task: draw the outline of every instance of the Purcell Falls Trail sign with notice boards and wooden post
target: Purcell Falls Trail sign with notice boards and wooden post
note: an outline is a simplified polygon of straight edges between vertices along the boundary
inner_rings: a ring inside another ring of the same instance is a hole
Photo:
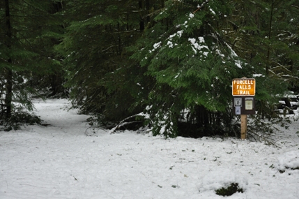
[[[255,79],[240,78],[233,79],[233,112],[241,115],[241,139],[246,139],[247,133],[247,115],[255,114],[254,97],[255,96]],[[236,96],[236,97],[235,97]]]

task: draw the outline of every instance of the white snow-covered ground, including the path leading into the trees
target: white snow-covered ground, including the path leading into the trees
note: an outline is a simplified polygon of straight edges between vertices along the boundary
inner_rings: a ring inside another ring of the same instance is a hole
[[[35,101],[48,126],[0,132],[0,198],[299,198],[299,121],[277,132],[280,147],[235,138],[138,134],[86,136],[86,115],[66,100]],[[298,114],[298,113],[296,113]],[[279,172],[284,170],[284,172]]]

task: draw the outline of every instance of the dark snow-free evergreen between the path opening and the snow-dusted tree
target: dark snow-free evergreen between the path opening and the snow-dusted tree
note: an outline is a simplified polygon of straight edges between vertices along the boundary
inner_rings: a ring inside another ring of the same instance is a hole
[[[126,50],[146,28],[147,1],[69,1],[67,33],[59,49],[66,59],[72,102],[82,112],[117,121],[138,109],[142,80]]]

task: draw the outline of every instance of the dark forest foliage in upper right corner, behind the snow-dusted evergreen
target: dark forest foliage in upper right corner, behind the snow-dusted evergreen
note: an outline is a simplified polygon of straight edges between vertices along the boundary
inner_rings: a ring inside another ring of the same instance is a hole
[[[266,70],[261,74],[289,82],[293,89],[298,84],[298,24],[293,24],[298,21],[298,1],[235,1],[234,6],[228,17],[233,26],[224,31],[233,49]]]

